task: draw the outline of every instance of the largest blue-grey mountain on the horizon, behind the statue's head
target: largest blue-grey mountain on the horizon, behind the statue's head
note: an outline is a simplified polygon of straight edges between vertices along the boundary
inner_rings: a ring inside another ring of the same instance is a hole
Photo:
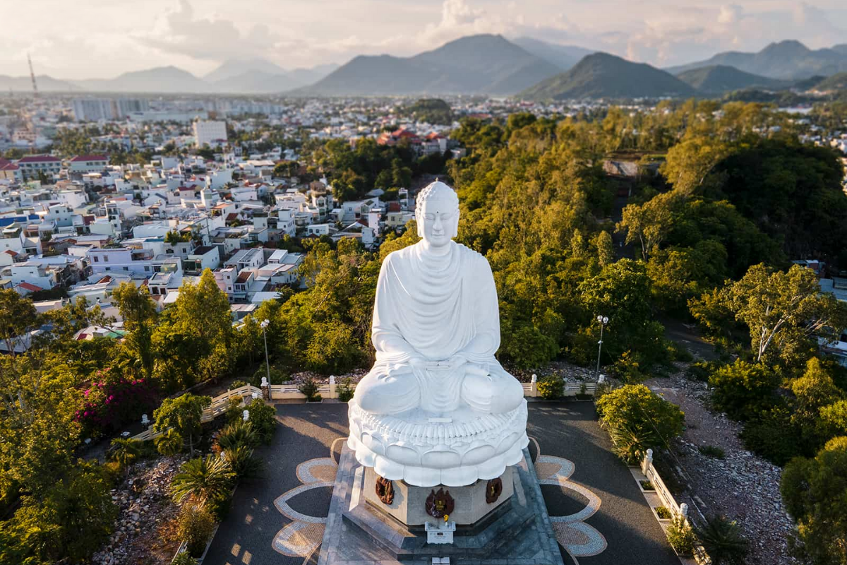
[[[299,96],[514,94],[560,68],[503,36],[468,36],[413,57],[360,55]]]

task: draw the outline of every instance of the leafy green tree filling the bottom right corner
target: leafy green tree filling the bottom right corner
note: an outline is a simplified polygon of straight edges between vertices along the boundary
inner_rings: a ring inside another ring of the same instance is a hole
[[[793,459],[780,490],[797,523],[799,557],[820,565],[847,562],[847,437],[829,440],[813,459]]]

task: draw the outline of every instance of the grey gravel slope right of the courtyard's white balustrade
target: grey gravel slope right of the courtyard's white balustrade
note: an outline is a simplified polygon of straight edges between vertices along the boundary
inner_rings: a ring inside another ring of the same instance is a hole
[[[745,449],[741,424],[707,409],[710,392],[702,382],[674,374],[645,385],[685,413],[687,428],[674,448],[689,489],[679,501],[688,503],[695,518],[699,508],[706,515],[738,520],[750,540],[748,565],[796,563],[788,550],[794,523],[779,494],[782,469]],[[703,455],[701,446],[720,447],[724,458]]]

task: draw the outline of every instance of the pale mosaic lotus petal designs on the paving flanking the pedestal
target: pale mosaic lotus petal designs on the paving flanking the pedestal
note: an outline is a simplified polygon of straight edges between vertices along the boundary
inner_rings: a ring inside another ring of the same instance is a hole
[[[339,440],[344,440],[344,438],[339,438]],[[534,438],[531,438],[531,440],[538,448],[538,442]],[[291,523],[285,525],[274,536],[274,550],[288,557],[304,557],[304,563],[308,562],[309,557],[320,546],[324,537],[326,517],[309,516],[297,512],[291,507],[289,501],[307,492],[307,490],[332,488],[338,465],[335,463],[335,459],[331,457],[331,451],[330,449],[330,457],[309,459],[298,465],[296,475],[302,485],[287,490],[274,501],[277,510],[286,518],[291,519]],[[569,480],[576,468],[573,462],[563,457],[541,455],[540,449],[537,452],[539,455],[535,459],[535,473],[538,475],[541,485],[558,485],[563,491],[573,490],[589,501],[579,512],[567,516],[550,517],[559,545],[567,551],[573,562],[579,565],[577,557],[590,557],[606,550],[606,538],[597,529],[584,523],[584,520],[593,516],[600,509],[600,497],[584,486]]]

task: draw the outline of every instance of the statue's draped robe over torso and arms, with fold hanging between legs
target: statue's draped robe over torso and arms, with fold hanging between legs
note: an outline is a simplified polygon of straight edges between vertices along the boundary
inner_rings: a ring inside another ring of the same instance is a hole
[[[435,255],[422,243],[392,252],[382,264],[374,302],[371,339],[375,374],[413,373],[409,360],[461,356],[495,374],[506,374],[494,354],[500,346],[500,316],[488,261],[451,241]],[[451,409],[465,368],[415,374],[422,404]],[[452,374],[455,373],[455,374]]]

